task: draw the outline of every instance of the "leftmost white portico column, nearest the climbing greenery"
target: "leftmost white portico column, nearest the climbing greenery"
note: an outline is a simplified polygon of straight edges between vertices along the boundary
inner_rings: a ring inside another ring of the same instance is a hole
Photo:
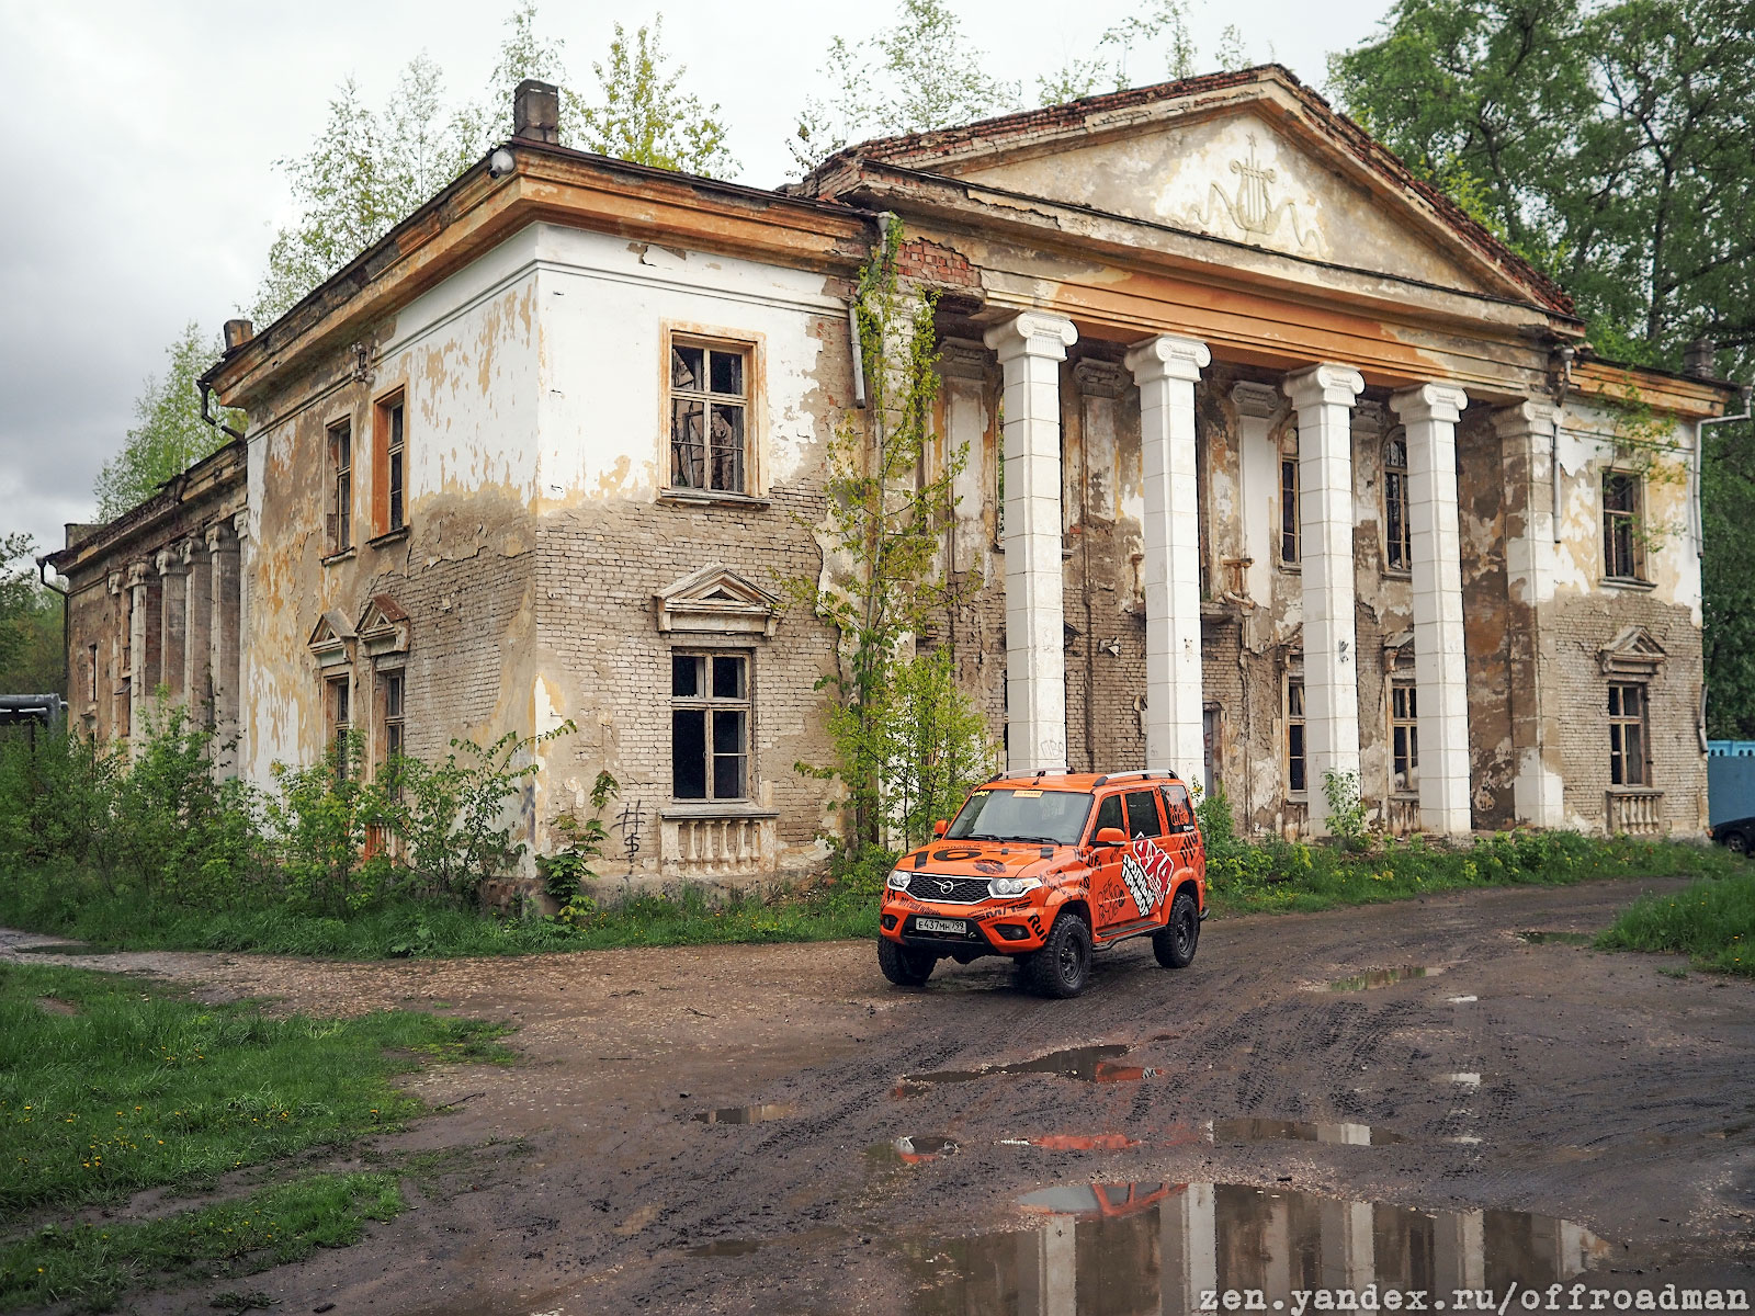
[[[1060,567],[1060,363],[1071,319],[1025,311],[985,335],[1006,381],[1007,770],[1065,772],[1067,663]]]

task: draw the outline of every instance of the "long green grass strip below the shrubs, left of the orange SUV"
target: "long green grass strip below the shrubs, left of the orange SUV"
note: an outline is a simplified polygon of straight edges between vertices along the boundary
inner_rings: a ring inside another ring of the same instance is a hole
[[[577,926],[541,918],[493,918],[435,904],[393,904],[353,918],[284,905],[190,909],[111,893],[67,870],[0,876],[0,926],[68,937],[100,949],[267,951],[342,960],[393,956],[530,955],[611,946],[832,941],[878,935],[878,900],[844,888],[806,895],[709,902],[612,902]]]

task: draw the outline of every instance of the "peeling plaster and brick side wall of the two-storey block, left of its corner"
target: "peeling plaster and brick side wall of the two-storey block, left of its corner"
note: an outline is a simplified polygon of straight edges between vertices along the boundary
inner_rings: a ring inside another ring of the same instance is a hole
[[[249,440],[249,677],[246,774],[309,763],[330,735],[325,674],[309,649],[333,612],[358,623],[372,595],[411,616],[405,735],[412,755],[451,737],[528,735],[534,651],[537,332],[534,233],[505,240],[374,326],[367,372],[342,349],[258,407]],[[388,532],[374,458],[377,402],[405,405],[405,530]],[[353,433],[353,547],[333,554],[328,430]],[[351,647],[353,725],[383,755],[374,663]],[[333,674],[333,672],[332,672]],[[525,691],[519,695],[518,691]]]

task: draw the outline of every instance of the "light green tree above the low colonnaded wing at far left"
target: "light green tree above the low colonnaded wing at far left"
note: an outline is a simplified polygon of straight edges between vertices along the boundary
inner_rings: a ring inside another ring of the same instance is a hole
[[[195,381],[219,356],[219,339],[202,333],[191,319],[165,349],[165,372],[147,375],[133,402],[135,425],[121,451],[104,463],[93,495],[98,518],[121,516],[146,502],[158,486],[181,476],[209,453],[218,451],[226,435],[202,419],[202,395]],[[239,426],[240,416],[225,419]]]

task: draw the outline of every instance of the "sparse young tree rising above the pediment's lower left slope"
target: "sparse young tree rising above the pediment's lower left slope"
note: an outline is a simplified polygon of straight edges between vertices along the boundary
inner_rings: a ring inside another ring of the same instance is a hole
[[[1016,82],[988,75],[946,0],[902,0],[895,23],[872,37],[828,46],[828,100],[799,114],[792,154],[814,168],[848,142],[927,132],[1018,107]]]

